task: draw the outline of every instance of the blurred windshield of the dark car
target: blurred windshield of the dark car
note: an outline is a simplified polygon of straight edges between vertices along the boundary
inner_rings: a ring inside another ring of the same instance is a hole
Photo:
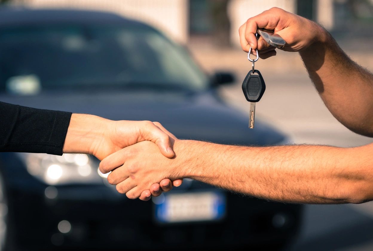
[[[145,25],[0,30],[1,91],[207,85],[184,48]]]

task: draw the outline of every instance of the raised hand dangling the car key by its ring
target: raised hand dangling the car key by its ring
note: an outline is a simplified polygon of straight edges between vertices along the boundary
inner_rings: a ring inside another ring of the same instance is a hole
[[[253,50],[258,48],[259,57],[262,59],[275,56],[276,51],[275,47],[270,46],[262,37],[257,41],[255,37],[257,28],[273,30],[279,34],[286,41],[285,47],[281,48],[284,51],[304,50],[325,34],[323,28],[316,23],[273,7],[249,18],[238,30],[242,49],[248,52],[250,47]],[[253,54],[256,56],[255,51]]]

